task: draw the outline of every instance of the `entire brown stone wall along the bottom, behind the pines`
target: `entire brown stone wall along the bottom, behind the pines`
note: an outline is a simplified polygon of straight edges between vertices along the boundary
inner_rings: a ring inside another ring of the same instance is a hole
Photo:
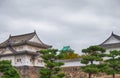
[[[21,66],[16,67],[21,75],[21,78],[39,78],[40,67]],[[81,71],[79,66],[62,67],[62,71],[65,73],[65,78],[88,78],[88,75]],[[111,75],[97,74],[92,78],[112,78]],[[116,78],[120,78],[116,75]]]

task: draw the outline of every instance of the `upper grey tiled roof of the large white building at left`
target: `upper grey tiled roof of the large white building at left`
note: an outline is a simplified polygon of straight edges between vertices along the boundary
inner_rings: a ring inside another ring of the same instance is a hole
[[[51,48],[52,47],[50,45],[44,44],[40,39],[39,39],[40,43],[29,41],[35,35],[37,36],[35,31],[32,33],[16,35],[16,36],[10,35],[6,41],[4,41],[3,43],[0,44],[0,48],[7,47],[8,45],[18,46],[18,45],[24,45],[24,44],[36,46],[39,48]]]

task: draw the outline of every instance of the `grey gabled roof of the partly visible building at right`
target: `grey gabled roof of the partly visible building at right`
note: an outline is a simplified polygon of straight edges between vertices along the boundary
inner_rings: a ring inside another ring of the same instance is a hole
[[[100,46],[105,48],[120,47],[120,43],[105,44],[111,37],[114,37],[116,40],[120,41],[120,36],[112,32],[111,35],[103,43],[100,44]]]

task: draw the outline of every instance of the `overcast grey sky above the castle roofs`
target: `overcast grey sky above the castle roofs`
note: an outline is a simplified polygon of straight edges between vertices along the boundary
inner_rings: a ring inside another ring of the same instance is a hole
[[[34,30],[44,43],[80,53],[120,35],[120,0],[0,0],[0,42]]]

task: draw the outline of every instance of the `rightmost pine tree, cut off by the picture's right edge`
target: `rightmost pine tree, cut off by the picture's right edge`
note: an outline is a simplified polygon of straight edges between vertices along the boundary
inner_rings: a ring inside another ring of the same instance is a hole
[[[120,74],[120,51],[110,51],[105,63],[108,66],[108,69],[105,71],[105,73],[111,74],[113,78],[115,78],[115,74]]]

